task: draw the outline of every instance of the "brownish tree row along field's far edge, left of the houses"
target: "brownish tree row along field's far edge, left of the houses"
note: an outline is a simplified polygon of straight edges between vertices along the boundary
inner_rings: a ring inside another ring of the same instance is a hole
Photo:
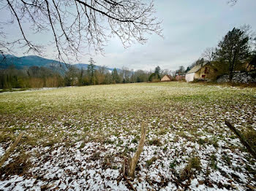
[[[41,88],[83,85],[110,85],[118,83],[159,82],[165,74],[174,75],[175,71],[162,70],[159,66],[154,71],[113,69],[96,66],[90,58],[86,69],[69,65],[66,69],[57,67],[30,66],[16,69],[15,65],[0,69],[0,89]]]

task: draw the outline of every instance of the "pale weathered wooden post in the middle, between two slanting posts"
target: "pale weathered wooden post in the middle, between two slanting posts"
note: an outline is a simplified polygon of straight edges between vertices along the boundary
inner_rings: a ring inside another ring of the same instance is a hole
[[[132,160],[129,163],[129,172],[128,172],[129,177],[134,178],[135,176],[135,168],[140,158],[140,154],[143,151],[145,140],[146,140],[146,125],[143,123],[141,125],[141,137],[140,137],[140,143],[138,145],[138,149],[135,152],[134,157],[132,157]]]

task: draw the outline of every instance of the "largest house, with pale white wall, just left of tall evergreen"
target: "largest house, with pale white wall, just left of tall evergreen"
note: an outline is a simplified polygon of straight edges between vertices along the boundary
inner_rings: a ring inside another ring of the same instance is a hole
[[[209,79],[216,69],[209,62],[198,64],[190,69],[186,74],[186,81],[192,82],[194,79]]]

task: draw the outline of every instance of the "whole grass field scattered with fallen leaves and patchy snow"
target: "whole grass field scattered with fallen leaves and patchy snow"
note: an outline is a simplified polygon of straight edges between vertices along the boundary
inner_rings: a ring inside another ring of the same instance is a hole
[[[0,190],[129,190],[124,157],[148,128],[135,190],[253,190],[256,160],[225,126],[256,134],[256,88],[185,82],[0,94]]]

